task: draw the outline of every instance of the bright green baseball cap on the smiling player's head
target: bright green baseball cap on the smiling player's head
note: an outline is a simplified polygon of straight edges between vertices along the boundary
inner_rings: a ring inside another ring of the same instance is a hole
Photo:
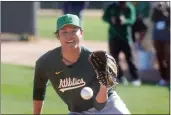
[[[60,16],[57,19],[56,32],[58,32],[65,25],[74,25],[81,28],[81,20],[78,18],[77,15],[73,15],[73,14],[65,14],[63,16]]]

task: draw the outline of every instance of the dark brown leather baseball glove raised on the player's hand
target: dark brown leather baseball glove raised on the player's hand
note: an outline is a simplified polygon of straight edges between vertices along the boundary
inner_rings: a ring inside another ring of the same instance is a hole
[[[89,56],[89,62],[93,66],[97,79],[108,90],[116,87],[117,65],[115,59],[105,51],[95,51]]]

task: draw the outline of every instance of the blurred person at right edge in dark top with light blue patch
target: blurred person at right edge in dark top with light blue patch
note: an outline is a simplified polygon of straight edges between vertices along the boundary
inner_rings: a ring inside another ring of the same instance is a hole
[[[152,11],[153,43],[159,63],[159,85],[170,84],[170,2],[156,2]]]

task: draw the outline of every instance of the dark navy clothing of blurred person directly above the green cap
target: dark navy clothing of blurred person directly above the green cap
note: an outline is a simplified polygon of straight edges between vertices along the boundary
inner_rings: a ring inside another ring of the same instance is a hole
[[[83,20],[83,11],[88,6],[86,1],[65,1],[63,4],[64,14],[75,14]]]

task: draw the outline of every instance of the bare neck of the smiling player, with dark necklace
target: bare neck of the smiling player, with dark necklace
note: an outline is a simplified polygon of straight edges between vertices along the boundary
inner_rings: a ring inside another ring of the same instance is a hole
[[[63,58],[62,60],[66,65],[71,65],[77,62],[77,60],[80,57],[80,53],[81,53],[81,47],[70,49],[70,50],[62,48],[62,58]]]

